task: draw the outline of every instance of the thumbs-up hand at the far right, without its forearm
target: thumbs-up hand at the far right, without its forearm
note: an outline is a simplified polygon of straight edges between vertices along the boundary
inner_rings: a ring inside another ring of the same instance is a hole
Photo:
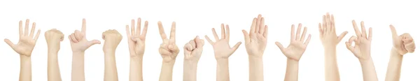
[[[407,52],[412,53],[416,49],[414,39],[408,33],[398,36],[397,31],[393,25],[389,25],[392,32],[393,47],[398,51],[398,54],[404,55]]]

